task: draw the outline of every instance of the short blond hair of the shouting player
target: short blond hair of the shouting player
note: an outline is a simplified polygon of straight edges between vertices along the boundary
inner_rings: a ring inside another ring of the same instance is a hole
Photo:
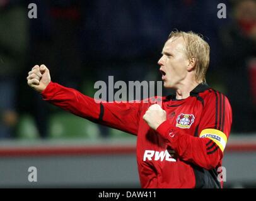
[[[195,79],[206,82],[206,71],[210,62],[209,44],[203,39],[202,35],[198,35],[193,31],[172,31],[168,40],[173,37],[183,37],[187,58],[195,58]]]

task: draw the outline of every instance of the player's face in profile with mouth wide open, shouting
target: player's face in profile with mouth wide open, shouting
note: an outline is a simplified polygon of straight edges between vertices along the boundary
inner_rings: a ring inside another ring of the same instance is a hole
[[[185,55],[185,41],[182,37],[170,38],[163,47],[162,57],[158,61],[164,87],[177,89],[187,76],[189,60]]]

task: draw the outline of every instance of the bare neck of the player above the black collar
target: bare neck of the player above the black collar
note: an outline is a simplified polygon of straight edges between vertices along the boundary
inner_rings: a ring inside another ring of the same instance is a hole
[[[199,85],[200,82],[197,81],[191,81],[191,82],[187,82],[185,84],[181,84],[178,89],[176,89],[176,99],[180,100],[180,99],[186,99],[187,97],[190,96],[190,92],[195,89],[195,87],[197,85]]]

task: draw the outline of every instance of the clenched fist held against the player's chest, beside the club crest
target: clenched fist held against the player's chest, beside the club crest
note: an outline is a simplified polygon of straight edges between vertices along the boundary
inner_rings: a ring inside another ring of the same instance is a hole
[[[158,126],[166,120],[166,112],[161,109],[160,105],[153,104],[145,112],[143,119],[147,122],[150,128],[156,130]]]

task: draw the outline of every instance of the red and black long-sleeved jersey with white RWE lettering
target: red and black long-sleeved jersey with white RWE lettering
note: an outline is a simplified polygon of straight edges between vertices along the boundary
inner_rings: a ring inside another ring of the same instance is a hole
[[[143,115],[154,101],[95,102],[77,90],[50,82],[42,97],[90,121],[137,136],[137,166],[143,188],[221,188],[218,172],[230,135],[228,99],[199,84],[186,99],[153,97],[166,111],[156,131]]]

